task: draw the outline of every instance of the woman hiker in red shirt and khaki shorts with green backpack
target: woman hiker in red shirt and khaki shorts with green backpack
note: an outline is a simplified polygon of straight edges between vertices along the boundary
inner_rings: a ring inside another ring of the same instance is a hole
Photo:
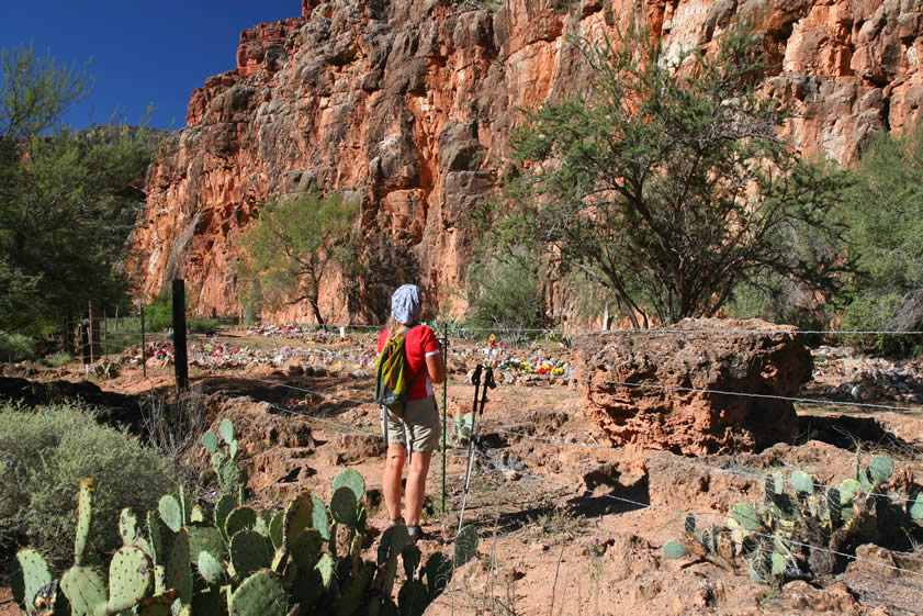
[[[439,410],[432,385],[446,380],[446,366],[436,334],[417,320],[423,294],[416,284],[404,284],[391,296],[391,317],[379,333],[379,355],[389,339],[404,336],[409,377],[419,374],[407,393],[404,416],[384,410],[382,424],[387,452],[384,461],[384,502],[392,525],[406,524],[410,539],[423,536],[420,513],[426,494],[429,460],[440,437]],[[401,513],[401,477],[407,462],[407,490]]]

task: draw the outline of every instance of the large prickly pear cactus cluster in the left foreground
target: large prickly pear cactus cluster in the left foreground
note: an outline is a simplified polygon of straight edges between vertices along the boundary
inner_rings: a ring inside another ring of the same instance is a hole
[[[222,430],[228,446],[233,436],[233,429]],[[365,482],[354,470],[334,480],[329,505],[305,491],[282,512],[258,512],[240,503],[239,486],[226,486],[236,494],[223,494],[209,516],[190,509],[182,490],[162,496],[145,516],[124,509],[123,546],[105,568],[87,551],[94,516],[92,481],[85,480],[75,564],[58,581],[37,552],[20,550],[16,598],[30,615],[420,616],[454,568],[476,553],[477,536],[465,527],[453,559],[436,553],[421,565],[406,527],[395,526],[382,535],[378,558],[363,559]],[[405,582],[395,602],[398,557]]]

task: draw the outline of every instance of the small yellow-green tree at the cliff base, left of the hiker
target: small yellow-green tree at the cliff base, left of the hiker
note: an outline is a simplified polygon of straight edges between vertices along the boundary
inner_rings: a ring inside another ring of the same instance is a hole
[[[279,309],[307,301],[317,324],[320,283],[330,265],[353,255],[359,204],[339,194],[311,193],[267,202],[244,238],[245,301],[257,309]]]

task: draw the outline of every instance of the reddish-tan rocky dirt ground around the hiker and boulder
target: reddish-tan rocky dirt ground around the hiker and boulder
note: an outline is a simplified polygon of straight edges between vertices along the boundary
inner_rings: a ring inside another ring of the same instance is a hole
[[[331,479],[353,468],[367,481],[369,524],[374,534],[383,530],[387,516],[379,504],[381,446],[365,434],[378,430],[379,423],[376,407],[364,403],[371,400],[372,380],[368,365],[362,366],[374,351],[373,337],[305,343],[251,339],[238,332],[200,345],[218,348],[222,343],[284,355],[274,362],[191,369],[193,390],[211,400],[210,419],[235,419],[249,456],[256,497],[280,503],[288,494],[307,489],[327,500]],[[296,347],[308,350],[300,357]],[[474,387],[466,382],[466,374],[483,357],[479,345],[458,343],[452,349],[447,391],[450,425],[454,416],[471,411]],[[561,345],[521,352],[529,354],[567,358]],[[128,361],[116,377],[97,384],[127,396],[169,393],[173,384],[169,362],[149,368],[147,378],[142,378],[139,368]],[[29,378],[77,380],[80,376],[79,368],[67,367]],[[848,377],[818,370],[803,395],[825,400],[826,392]],[[427,614],[923,613],[923,574],[897,571],[894,555],[870,546],[860,548],[863,560],[835,578],[795,581],[780,590],[757,584],[745,571],[734,573],[693,557],[668,560],[662,552],[666,541],[682,536],[686,514],[723,520],[735,502],[762,499],[758,477],[764,473],[801,469],[828,484],[851,477],[857,445],[864,451],[887,451],[899,470],[923,477],[919,404],[885,401],[883,405],[899,407],[886,411],[864,410],[848,401],[799,403],[802,434],[795,445],[693,459],[611,448],[583,417],[572,379],[533,374],[506,381],[488,393],[482,447],[465,501],[464,523],[477,528],[480,558],[457,571],[449,590]],[[864,401],[874,403],[875,399]],[[249,422],[241,422],[243,416]],[[434,551],[451,551],[466,455],[465,447],[454,447],[446,457],[444,512],[442,458],[434,457],[424,520],[428,537],[420,542],[424,558]],[[4,603],[9,596],[4,592],[0,590],[0,616],[18,613]]]

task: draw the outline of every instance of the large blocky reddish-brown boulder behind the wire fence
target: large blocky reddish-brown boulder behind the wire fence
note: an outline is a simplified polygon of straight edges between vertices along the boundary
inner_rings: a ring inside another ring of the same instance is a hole
[[[615,446],[702,456],[792,439],[798,416],[775,396],[796,395],[812,366],[793,327],[705,318],[672,329],[682,335],[574,341],[583,408]]]

